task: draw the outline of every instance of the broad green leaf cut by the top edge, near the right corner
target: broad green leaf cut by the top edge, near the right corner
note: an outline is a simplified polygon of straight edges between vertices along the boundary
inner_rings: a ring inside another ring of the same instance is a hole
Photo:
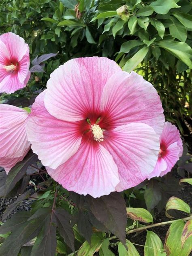
[[[179,8],[181,6],[175,3],[175,0],[157,0],[149,4],[156,13],[166,14],[171,8]]]

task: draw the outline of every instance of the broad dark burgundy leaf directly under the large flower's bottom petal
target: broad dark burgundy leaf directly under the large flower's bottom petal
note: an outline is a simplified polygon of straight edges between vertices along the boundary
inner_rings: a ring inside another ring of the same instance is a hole
[[[122,243],[126,243],[126,204],[120,193],[113,192],[100,198],[89,198],[90,209],[94,216]]]

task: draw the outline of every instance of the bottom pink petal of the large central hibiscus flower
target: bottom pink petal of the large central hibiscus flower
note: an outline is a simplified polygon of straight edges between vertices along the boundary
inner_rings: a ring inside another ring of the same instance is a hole
[[[119,183],[113,157],[97,142],[83,141],[73,157],[47,172],[67,190],[94,198],[110,194]]]

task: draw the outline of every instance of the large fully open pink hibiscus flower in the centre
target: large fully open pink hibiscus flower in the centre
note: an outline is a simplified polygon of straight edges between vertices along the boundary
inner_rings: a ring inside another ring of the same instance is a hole
[[[32,106],[27,134],[55,181],[96,198],[152,172],[162,112],[156,90],[140,75],[108,58],[78,58],[51,74]]]

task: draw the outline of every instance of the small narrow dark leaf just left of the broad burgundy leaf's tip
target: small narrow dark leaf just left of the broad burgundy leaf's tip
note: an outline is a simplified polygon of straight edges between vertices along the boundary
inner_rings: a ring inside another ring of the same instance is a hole
[[[83,211],[79,211],[77,226],[79,232],[85,237],[85,239],[91,243],[92,236],[92,224],[87,216],[87,214]]]

